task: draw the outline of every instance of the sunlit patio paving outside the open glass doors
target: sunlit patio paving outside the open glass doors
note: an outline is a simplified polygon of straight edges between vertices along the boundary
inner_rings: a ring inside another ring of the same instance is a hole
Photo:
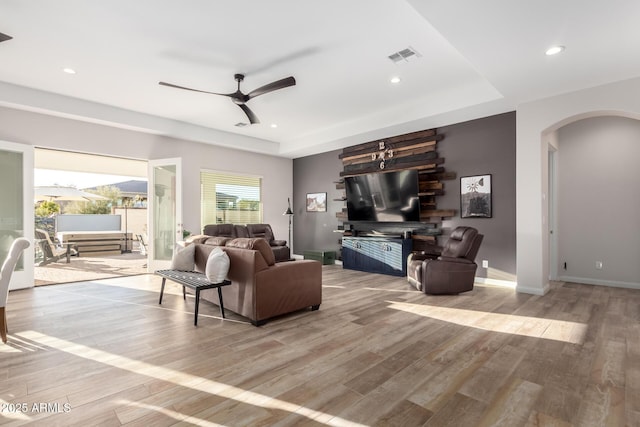
[[[69,264],[61,259],[42,267],[36,266],[34,269],[35,285],[89,281],[147,273],[147,256],[140,253],[137,241],[134,242],[133,249],[132,252],[121,255],[74,256],[71,257]]]

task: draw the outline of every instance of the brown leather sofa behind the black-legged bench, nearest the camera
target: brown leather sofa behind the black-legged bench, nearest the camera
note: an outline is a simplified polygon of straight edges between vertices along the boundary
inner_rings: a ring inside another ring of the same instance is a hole
[[[196,271],[204,272],[209,253],[220,245],[229,255],[230,286],[222,288],[225,309],[247,317],[259,326],[267,319],[298,310],[317,310],[322,302],[322,265],[318,261],[275,262],[262,238],[212,237],[194,243]],[[201,297],[219,304],[215,289]]]

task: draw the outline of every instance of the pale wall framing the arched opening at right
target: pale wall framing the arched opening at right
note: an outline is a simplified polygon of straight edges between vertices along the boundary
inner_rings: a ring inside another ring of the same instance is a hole
[[[548,290],[546,202],[548,135],[573,121],[620,115],[640,118],[640,79],[611,83],[522,104],[517,109],[517,290]]]

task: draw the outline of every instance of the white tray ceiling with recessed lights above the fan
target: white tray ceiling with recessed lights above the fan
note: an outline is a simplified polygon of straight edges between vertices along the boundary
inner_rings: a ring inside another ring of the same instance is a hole
[[[2,0],[0,105],[295,158],[638,77],[639,18],[637,0]],[[228,98],[158,85],[230,93],[235,73],[297,85],[242,128]]]

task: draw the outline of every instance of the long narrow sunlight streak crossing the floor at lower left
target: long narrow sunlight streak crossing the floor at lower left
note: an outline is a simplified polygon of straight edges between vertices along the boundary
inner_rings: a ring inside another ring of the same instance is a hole
[[[281,410],[292,414],[295,413],[310,420],[316,420],[316,422],[318,422],[318,418],[324,417],[330,419],[329,424],[333,426],[364,427],[362,424],[354,423],[321,411],[305,408],[304,406],[276,399],[271,396],[250,390],[244,390],[232,385],[191,375],[185,372],[176,371],[175,369],[170,369],[164,366],[157,366],[140,360],[130,359],[128,357],[88,347],[83,344],[59,339],[50,335],[44,335],[36,331],[24,331],[17,335],[24,339],[73,354],[74,356],[81,357],[83,359],[103,363],[118,369],[155,378],[160,381],[169,381],[169,378],[173,378],[174,381],[172,382],[176,385],[203,393],[215,394],[227,399],[233,399],[247,405],[260,406],[272,410]]]

